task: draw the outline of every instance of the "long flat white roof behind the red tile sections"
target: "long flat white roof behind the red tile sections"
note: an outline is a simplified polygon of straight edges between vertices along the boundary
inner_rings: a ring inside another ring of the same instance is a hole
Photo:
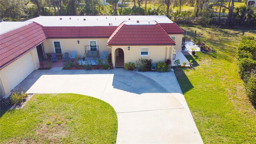
[[[140,20],[173,23],[166,16],[39,16],[26,22],[37,22],[42,26],[109,26],[109,24],[111,26],[119,26],[123,21],[128,20],[134,22]]]

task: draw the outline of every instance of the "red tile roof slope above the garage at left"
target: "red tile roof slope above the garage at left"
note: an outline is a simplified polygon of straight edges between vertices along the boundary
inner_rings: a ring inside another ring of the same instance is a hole
[[[0,69],[46,40],[42,26],[36,22],[0,35]]]

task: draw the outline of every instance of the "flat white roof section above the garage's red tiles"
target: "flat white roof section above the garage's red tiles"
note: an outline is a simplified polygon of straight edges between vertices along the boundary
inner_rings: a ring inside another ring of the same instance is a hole
[[[31,24],[32,22],[0,22],[0,34],[14,30],[21,26]]]

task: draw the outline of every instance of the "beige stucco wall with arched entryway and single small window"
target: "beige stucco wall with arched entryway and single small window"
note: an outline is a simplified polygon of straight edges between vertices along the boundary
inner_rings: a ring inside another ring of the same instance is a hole
[[[142,47],[149,48],[149,56],[140,56],[140,48]],[[118,48],[122,48],[124,51],[124,63],[135,63],[139,58],[146,58],[148,60],[151,59],[154,63],[161,61],[163,62],[166,59],[172,60],[173,46],[130,46],[130,50],[128,50],[128,46],[112,46],[113,66],[115,66]]]

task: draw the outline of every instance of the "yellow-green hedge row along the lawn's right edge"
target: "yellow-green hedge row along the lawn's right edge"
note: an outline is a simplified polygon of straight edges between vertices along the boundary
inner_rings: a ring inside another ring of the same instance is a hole
[[[244,81],[246,95],[256,105],[256,42],[253,36],[244,36],[237,46],[238,74]]]

